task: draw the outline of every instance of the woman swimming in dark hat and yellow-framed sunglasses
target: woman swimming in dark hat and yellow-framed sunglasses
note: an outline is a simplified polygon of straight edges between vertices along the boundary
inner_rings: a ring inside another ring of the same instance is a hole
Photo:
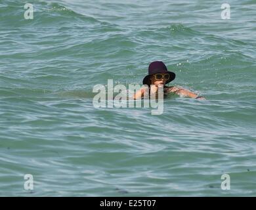
[[[202,96],[198,96],[196,93],[192,93],[186,89],[175,86],[165,86],[167,83],[173,81],[173,79],[175,79],[175,73],[169,72],[163,62],[154,61],[148,66],[148,75],[146,75],[142,81],[144,87],[133,95],[133,99],[142,98],[146,93],[149,93],[149,96],[156,94],[158,93],[158,88],[163,87],[164,95],[167,95],[168,93],[175,93],[180,96],[205,100]]]

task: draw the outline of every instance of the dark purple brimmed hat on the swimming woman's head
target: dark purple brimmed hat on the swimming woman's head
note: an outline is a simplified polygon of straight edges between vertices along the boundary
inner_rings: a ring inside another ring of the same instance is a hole
[[[153,74],[157,74],[157,73],[170,75],[169,79],[165,82],[165,84],[167,84],[170,81],[173,81],[173,79],[175,79],[175,73],[169,72],[163,62],[154,61],[154,62],[151,62],[150,65],[148,66],[148,75],[146,75],[146,77],[144,77],[144,79],[142,81],[143,85],[146,84],[146,85],[150,86],[150,84],[151,84],[150,76]]]

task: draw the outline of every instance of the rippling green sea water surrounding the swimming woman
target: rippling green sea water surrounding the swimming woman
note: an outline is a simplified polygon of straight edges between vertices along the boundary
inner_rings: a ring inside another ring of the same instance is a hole
[[[255,1],[25,3],[0,1],[0,196],[256,196]],[[93,106],[154,60],[207,100]]]

